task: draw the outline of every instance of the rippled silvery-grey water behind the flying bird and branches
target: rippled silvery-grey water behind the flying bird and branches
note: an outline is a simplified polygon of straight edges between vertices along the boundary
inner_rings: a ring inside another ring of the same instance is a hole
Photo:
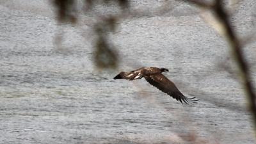
[[[172,4],[164,16],[120,22],[111,35],[120,68],[99,71],[90,22],[58,27],[47,1],[0,1],[0,143],[255,143],[243,88],[220,67],[232,64],[226,42],[193,6]],[[253,29],[253,13],[251,1],[233,16],[241,35]],[[245,50],[253,64],[255,43]],[[141,66],[169,68],[165,75],[200,102],[179,104],[143,79],[113,80]]]

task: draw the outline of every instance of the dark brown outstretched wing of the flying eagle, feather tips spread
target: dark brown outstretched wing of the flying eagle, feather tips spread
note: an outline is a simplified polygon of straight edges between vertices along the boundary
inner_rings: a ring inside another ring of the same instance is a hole
[[[164,93],[167,93],[173,99],[176,99],[180,101],[181,103],[185,102],[188,104],[188,102],[195,103],[198,101],[198,99],[195,99],[195,97],[188,98],[185,97],[175,86],[172,81],[170,81],[167,77],[165,77],[163,74],[154,74],[150,75],[149,77],[145,77],[145,79],[148,81],[148,83],[152,84],[153,86],[156,86],[159,90],[161,90]]]

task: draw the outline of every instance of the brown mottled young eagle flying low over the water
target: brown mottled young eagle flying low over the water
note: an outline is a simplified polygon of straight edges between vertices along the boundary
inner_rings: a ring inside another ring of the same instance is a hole
[[[188,98],[185,97],[175,86],[172,81],[170,81],[167,77],[165,77],[162,72],[169,72],[166,68],[157,68],[157,67],[142,67],[138,68],[136,70],[132,70],[131,72],[120,72],[117,76],[114,77],[114,79],[129,79],[130,81],[134,79],[141,79],[144,77],[148,83],[152,84],[153,86],[156,86],[159,90],[161,90],[164,93],[167,93],[173,99],[176,99],[178,101],[185,102],[188,104],[188,102],[196,103],[198,99],[195,99],[195,97]]]

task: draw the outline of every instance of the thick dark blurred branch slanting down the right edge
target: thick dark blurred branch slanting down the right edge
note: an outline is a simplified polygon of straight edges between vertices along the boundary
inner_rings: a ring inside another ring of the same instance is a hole
[[[256,127],[256,95],[254,92],[254,86],[252,83],[252,77],[250,76],[250,68],[244,58],[244,53],[242,49],[242,44],[237,38],[237,35],[230,24],[230,20],[227,12],[222,4],[221,0],[215,0],[214,4],[205,3],[204,1],[198,0],[186,0],[189,3],[196,4],[197,6],[207,8],[211,10],[216,19],[220,22],[222,27],[223,36],[227,38],[228,43],[230,44],[231,51],[234,55],[234,59],[237,62],[237,66],[240,70],[241,80],[243,82],[244,90],[247,94],[248,104],[250,111],[253,114],[254,125]],[[256,133],[255,133],[256,134]]]

